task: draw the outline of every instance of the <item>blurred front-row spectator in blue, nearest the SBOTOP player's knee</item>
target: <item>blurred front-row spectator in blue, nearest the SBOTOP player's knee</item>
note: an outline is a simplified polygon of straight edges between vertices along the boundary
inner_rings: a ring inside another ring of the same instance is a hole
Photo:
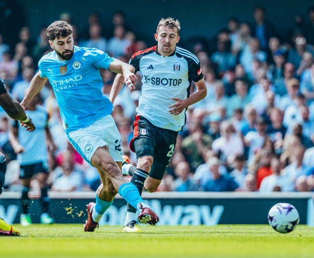
[[[175,173],[178,178],[173,182],[173,191],[198,191],[199,186],[197,185],[193,177],[191,177],[191,169],[188,162],[181,161],[176,166]]]

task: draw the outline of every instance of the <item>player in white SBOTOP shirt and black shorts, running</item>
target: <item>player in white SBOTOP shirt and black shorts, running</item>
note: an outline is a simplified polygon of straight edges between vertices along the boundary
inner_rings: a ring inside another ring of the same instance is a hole
[[[173,18],[162,19],[154,34],[157,46],[135,53],[129,64],[142,73],[142,95],[133,123],[134,137],[130,149],[136,152],[137,167],[124,164],[123,174],[141,193],[143,187],[154,192],[164,177],[172,157],[178,131],[186,120],[188,106],[206,96],[206,86],[199,60],[189,51],[177,47],[180,23]],[[123,75],[114,80],[109,99],[113,103],[123,86]],[[197,92],[190,95],[194,81]],[[132,85],[128,85],[130,89]],[[140,232],[136,226],[135,209],[130,205],[124,232]]]

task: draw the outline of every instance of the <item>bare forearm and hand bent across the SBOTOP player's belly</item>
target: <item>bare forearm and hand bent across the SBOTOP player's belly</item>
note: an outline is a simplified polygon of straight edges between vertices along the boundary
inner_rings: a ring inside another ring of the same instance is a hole
[[[197,92],[190,95],[189,98],[185,100],[180,100],[178,98],[172,98],[172,100],[176,101],[175,104],[169,106],[169,112],[172,115],[179,115],[185,108],[194,103],[204,99],[207,94],[206,84],[204,78],[199,81],[194,82],[197,88]]]

